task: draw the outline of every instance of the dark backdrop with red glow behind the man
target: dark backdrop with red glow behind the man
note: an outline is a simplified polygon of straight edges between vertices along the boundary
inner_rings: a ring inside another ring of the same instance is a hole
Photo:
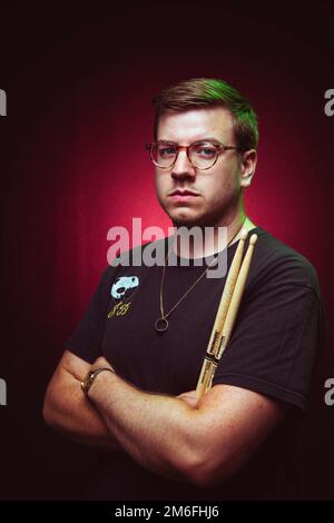
[[[334,499],[334,406],[323,401],[324,379],[334,377],[334,117],[324,114],[324,92],[334,87],[333,8],[11,6],[2,9],[0,36],[0,88],[8,96],[0,120],[0,377],[8,383],[0,497],[85,495],[85,470],[95,456],[45,426],[45,388],[107,264],[108,229],[130,229],[132,217],[141,217],[143,227],[170,225],[144,150],[153,136],[153,96],[206,76],[239,89],[259,117],[247,214],[318,273],[328,336],[306,441],[310,451],[320,450],[305,464],[305,491],[310,499]]]

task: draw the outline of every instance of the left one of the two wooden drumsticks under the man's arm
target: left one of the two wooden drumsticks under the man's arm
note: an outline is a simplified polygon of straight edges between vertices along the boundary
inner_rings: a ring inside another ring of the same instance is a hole
[[[222,298],[217,309],[215,323],[212,329],[210,338],[208,342],[206,356],[203,362],[200,375],[197,383],[196,396],[200,397],[207,389],[207,382],[212,375],[212,359],[216,356],[219,348],[219,333],[223,330],[224,322],[228,312],[228,306],[232,299],[233,290],[237,280],[238,272],[242,265],[245,240],[247,238],[247,230],[244,229],[235,251],[225,286],[222,293]]]

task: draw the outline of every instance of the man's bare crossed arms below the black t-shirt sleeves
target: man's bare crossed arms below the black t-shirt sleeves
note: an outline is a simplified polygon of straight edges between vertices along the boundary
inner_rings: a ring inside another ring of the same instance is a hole
[[[110,366],[98,358],[94,368]],[[100,373],[87,398],[80,381],[91,368],[65,352],[49,384],[46,421],[76,440],[127,452],[144,467],[173,480],[210,486],[234,474],[283,420],[287,406],[229,385],[197,402],[140,391]]]

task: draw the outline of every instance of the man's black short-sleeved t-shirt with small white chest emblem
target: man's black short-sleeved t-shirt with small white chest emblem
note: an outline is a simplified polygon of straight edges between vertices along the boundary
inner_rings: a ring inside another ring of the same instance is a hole
[[[315,363],[323,346],[321,293],[315,269],[307,259],[262,227],[254,228],[253,233],[257,234],[258,240],[246,288],[213,386],[235,385],[285,402],[294,407],[289,416],[239,473],[210,489],[165,480],[145,470],[126,453],[104,453],[98,497],[243,500],[297,496],[293,444],[298,413],[306,408]],[[154,245],[161,246],[161,243],[167,253],[166,239]],[[246,247],[247,244],[248,239]],[[144,391],[178,395],[196,388],[226,276],[204,276],[171,312],[168,329],[158,333],[155,322],[160,316],[163,267],[131,263],[147,245],[127,253],[130,254],[129,266],[109,266],[104,272],[67,348],[89,363],[104,355],[119,376]],[[237,243],[227,249],[227,268],[236,246]],[[174,258],[173,265],[166,266],[165,313],[206,267],[194,260],[185,266],[181,258],[175,255]]]

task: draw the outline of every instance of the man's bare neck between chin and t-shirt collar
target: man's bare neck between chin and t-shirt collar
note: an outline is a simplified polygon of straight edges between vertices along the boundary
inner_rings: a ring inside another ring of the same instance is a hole
[[[253,229],[255,224],[244,214],[239,214],[228,224],[215,227],[196,228],[198,235],[191,234],[191,227],[177,227],[173,250],[183,258],[204,258],[222,251],[226,245],[238,241],[242,230]]]

